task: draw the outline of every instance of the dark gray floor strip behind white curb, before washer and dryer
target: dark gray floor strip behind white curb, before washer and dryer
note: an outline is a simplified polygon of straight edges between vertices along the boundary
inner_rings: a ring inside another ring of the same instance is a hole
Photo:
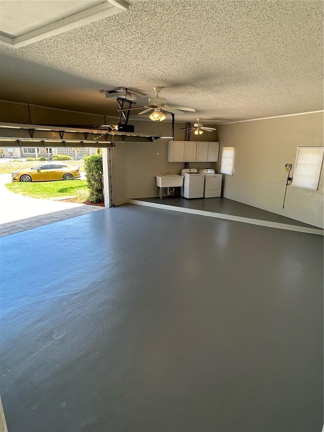
[[[304,226],[314,228],[314,225],[300,222],[289,217],[281,216],[276,213],[268,212],[257,207],[229,200],[228,198],[197,198],[187,200],[181,197],[163,197],[159,198],[134,198],[138,201],[147,201],[149,203],[165,204],[169,206],[184,207],[195,210],[204,210],[207,212],[221,213],[232,216],[241,216],[251,219],[267,220],[271,222],[285,223],[288,225]],[[318,227],[315,227],[318,228]],[[320,229],[320,228],[318,228]]]

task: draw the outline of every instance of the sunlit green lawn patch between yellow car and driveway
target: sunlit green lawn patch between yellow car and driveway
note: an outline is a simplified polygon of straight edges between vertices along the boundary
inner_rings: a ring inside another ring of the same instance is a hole
[[[86,200],[84,197],[88,192],[87,180],[59,180],[35,183],[17,182],[7,183],[6,187],[20,195],[44,200],[61,197],[79,197],[82,200],[80,202],[83,202]]]

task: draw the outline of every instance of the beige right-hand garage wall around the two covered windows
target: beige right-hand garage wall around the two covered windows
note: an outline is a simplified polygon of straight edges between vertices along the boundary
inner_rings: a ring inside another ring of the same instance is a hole
[[[298,146],[323,146],[323,130],[322,112],[219,125],[219,161],[222,146],[236,146],[235,173],[223,176],[224,197],[323,227],[323,169],[318,190],[288,186],[282,209],[285,164],[294,169]]]

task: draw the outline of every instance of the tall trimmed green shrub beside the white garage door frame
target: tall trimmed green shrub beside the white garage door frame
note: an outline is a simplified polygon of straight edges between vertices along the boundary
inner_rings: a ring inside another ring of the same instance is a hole
[[[103,202],[102,156],[92,154],[85,158],[85,169],[89,185],[89,201]]]

